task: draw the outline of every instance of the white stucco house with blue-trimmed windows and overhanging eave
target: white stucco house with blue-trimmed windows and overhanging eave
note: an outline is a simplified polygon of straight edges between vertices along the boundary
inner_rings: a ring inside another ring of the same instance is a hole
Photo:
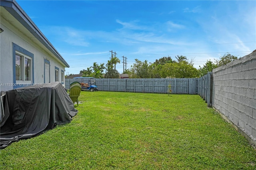
[[[60,82],[68,63],[15,0],[0,1],[0,91]]]

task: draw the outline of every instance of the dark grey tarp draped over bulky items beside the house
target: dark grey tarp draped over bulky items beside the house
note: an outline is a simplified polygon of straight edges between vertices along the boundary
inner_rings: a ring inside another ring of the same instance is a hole
[[[70,123],[78,111],[60,83],[29,86],[6,92],[0,148]]]

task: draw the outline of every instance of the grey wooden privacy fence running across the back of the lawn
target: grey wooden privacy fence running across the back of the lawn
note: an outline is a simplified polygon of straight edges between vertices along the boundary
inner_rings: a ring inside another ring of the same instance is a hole
[[[66,89],[77,79],[65,79]],[[82,81],[82,79],[80,80]],[[86,83],[86,82],[80,82]],[[198,94],[198,78],[180,79],[96,79],[99,91],[124,91],[140,93],[168,93],[171,85],[173,94]]]

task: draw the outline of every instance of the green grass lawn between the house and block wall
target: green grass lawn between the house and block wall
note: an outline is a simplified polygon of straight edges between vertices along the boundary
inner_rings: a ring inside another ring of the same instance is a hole
[[[198,95],[82,91],[71,123],[1,150],[0,169],[256,169]]]

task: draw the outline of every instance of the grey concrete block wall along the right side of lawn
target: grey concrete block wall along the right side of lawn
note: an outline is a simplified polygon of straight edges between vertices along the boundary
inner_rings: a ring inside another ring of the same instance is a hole
[[[256,145],[256,51],[212,71],[212,107]]]

